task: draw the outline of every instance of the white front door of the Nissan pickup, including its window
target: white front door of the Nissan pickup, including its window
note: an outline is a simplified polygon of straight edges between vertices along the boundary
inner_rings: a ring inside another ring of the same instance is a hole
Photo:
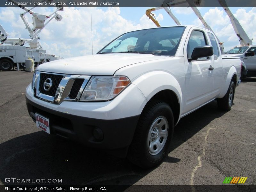
[[[185,105],[184,114],[211,100],[213,89],[212,57],[188,61],[195,47],[209,45],[204,31],[192,30],[184,47],[185,59]],[[186,54],[187,53],[187,57]]]

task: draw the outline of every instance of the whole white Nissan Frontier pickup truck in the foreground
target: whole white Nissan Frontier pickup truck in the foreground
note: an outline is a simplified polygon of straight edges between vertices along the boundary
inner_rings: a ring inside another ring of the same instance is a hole
[[[26,102],[45,132],[147,168],[168,154],[180,118],[215,99],[230,110],[240,74],[240,59],[222,59],[211,31],[150,28],[125,33],[95,55],[40,65]]]

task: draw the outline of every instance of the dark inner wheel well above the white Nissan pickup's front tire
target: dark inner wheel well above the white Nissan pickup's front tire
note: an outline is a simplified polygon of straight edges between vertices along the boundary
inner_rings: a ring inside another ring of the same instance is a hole
[[[157,92],[150,100],[153,99],[164,101],[172,108],[174,125],[177,124],[180,117],[180,103],[176,94],[172,90],[166,89]]]

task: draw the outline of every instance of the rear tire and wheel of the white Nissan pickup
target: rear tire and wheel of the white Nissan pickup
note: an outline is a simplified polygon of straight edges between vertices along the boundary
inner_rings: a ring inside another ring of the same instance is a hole
[[[226,95],[223,98],[217,100],[218,107],[221,110],[229,111],[233,105],[234,96],[235,96],[235,83],[231,81]]]

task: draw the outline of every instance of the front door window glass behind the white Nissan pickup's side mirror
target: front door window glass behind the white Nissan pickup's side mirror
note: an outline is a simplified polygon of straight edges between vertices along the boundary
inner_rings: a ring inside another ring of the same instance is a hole
[[[195,47],[207,45],[204,32],[202,31],[192,31],[187,46],[187,56],[191,58],[192,52]],[[198,60],[209,60],[209,57],[198,58]]]

